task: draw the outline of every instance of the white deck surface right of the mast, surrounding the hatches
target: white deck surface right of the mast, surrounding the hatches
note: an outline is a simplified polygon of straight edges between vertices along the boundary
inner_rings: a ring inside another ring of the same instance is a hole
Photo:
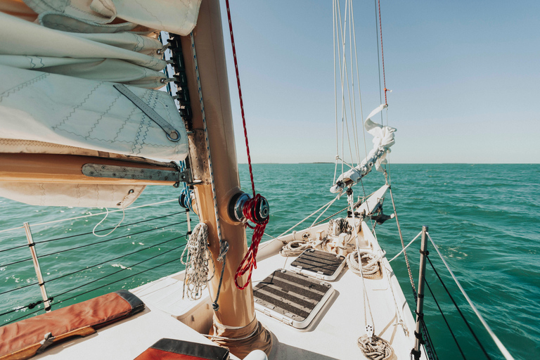
[[[286,268],[294,259],[276,255],[257,263],[257,269],[253,274],[254,285],[272,271]],[[390,269],[389,264],[387,267]],[[409,335],[405,335],[401,326],[394,326],[397,323],[396,304],[386,274],[380,279],[366,279],[366,290],[375,321],[375,335],[390,342],[397,356],[392,359],[409,359],[414,345],[414,320],[391,269],[390,274],[397,305],[401,314],[404,314]],[[293,328],[257,311],[257,319],[274,335],[270,359],[363,358],[361,350],[356,345],[358,338],[366,333],[362,280],[352,271],[345,269],[336,281],[330,284],[335,289],[332,297],[305,329]],[[370,319],[368,309],[366,314]],[[424,353],[422,358],[425,359]]]

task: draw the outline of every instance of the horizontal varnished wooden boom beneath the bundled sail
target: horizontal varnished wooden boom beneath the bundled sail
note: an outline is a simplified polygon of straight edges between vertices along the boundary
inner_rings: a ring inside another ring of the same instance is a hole
[[[114,184],[114,185],[174,185],[176,181],[152,179],[120,179],[86,176],[86,164],[115,165],[131,169],[153,169],[174,172],[174,167],[150,162],[134,162],[118,158],[98,158],[81,155],[0,153],[0,181],[25,181],[41,183]],[[168,165],[168,164],[164,164]]]

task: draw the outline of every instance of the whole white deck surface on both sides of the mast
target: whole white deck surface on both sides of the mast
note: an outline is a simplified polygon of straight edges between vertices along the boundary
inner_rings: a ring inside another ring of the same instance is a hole
[[[252,277],[253,285],[276,269],[286,269],[294,259],[274,255],[258,262]],[[375,335],[390,342],[395,354],[391,359],[409,359],[414,344],[414,319],[390,264],[386,259],[383,261],[390,270],[396,302],[386,271],[382,278],[365,280],[375,321]],[[204,335],[190,327],[204,328],[206,323],[212,321],[212,311],[207,307],[210,297],[196,302],[182,300],[182,278],[182,273],[172,274],[131,290],[146,304],[147,308],[141,314],[86,338],[51,347],[34,359],[47,356],[54,359],[134,359],[160,338],[212,345]],[[269,359],[363,359],[356,345],[358,338],[366,333],[362,280],[345,268],[330,284],[334,288],[333,295],[307,328],[293,328],[260,311],[256,312],[257,319],[273,334],[274,346]],[[408,335],[400,325],[394,325],[397,323],[396,304],[409,330]],[[365,314],[371,319],[367,307]],[[187,321],[190,326],[179,320]],[[231,354],[231,359],[237,358]],[[422,359],[425,359],[424,352]]]

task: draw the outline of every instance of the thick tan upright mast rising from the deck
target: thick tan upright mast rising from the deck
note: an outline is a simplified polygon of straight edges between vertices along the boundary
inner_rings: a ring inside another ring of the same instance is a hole
[[[231,99],[229,96],[229,82],[227,79],[218,0],[203,0],[193,35],[205,107],[208,146],[212,155],[212,167],[216,183],[215,188],[221,234],[223,240],[229,243],[223,282],[221,283],[219,293],[219,309],[214,312],[214,327],[226,328],[227,331],[236,328],[238,329],[238,333],[225,336],[227,338],[240,338],[241,336],[239,334],[242,334],[242,331],[248,329],[249,326],[255,326],[257,321],[255,319],[251,283],[245,290],[239,290],[234,283],[236,269],[238,269],[238,265],[247,252],[248,245],[246,243],[245,227],[238,221],[231,219],[227,212],[231,198],[240,192],[240,180],[238,179]],[[203,132],[204,125],[201,106],[198,101],[198,86],[191,52],[191,37],[182,37],[181,45],[186,63],[188,90],[193,109],[194,134],[189,136],[190,162],[195,180],[202,181],[200,184],[195,185],[198,215],[200,221],[203,221],[208,226],[210,251],[212,252],[216,266],[214,278],[212,278],[209,285],[210,296],[213,301],[217,295],[223,263],[217,260],[217,256],[219,255],[219,239],[214,212],[214,196],[210,183],[210,169],[206,165],[208,162],[208,153]],[[193,148],[197,149],[196,153],[193,151]],[[245,283],[245,281],[247,281],[247,274],[240,279],[240,283]],[[271,338],[268,333],[261,333],[259,331],[253,338],[259,338],[259,340],[264,338],[265,348],[263,349],[269,351]],[[260,341],[259,345],[261,345]],[[258,348],[261,349],[262,347]],[[230,349],[235,354],[233,348],[230,347]],[[240,354],[236,355],[240,356]]]

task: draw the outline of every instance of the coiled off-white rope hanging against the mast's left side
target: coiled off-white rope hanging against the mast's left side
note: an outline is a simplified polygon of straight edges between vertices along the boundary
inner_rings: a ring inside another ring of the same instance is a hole
[[[189,236],[188,243],[180,261],[186,265],[186,278],[184,279],[184,296],[188,295],[190,300],[198,300],[203,295],[208,281],[210,281],[215,274],[214,259],[212,254],[208,250],[208,227],[204,223],[199,223],[193,229],[193,233]],[[186,255],[186,261],[184,262],[184,255]],[[208,264],[212,262],[212,276],[208,278]]]

